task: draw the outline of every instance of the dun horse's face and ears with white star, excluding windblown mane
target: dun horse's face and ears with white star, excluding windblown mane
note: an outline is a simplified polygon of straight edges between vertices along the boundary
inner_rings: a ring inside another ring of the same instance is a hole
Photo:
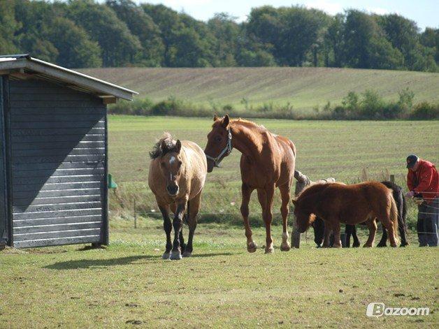
[[[166,191],[170,196],[178,194],[178,180],[181,175],[182,158],[181,158],[181,142],[177,140],[175,145],[169,145],[164,140],[161,142],[160,170],[166,179]]]

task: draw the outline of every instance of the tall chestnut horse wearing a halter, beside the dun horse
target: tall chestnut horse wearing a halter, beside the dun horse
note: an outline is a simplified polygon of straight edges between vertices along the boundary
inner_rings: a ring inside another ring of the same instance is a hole
[[[262,217],[266,228],[266,254],[272,253],[273,238],[271,237],[271,221],[273,214],[273,198],[275,187],[280,189],[282,197],[282,244],[280,249],[288,251],[288,205],[289,190],[294,177],[294,163],[296,147],[288,138],[275,135],[264,126],[243,119],[229,119],[229,115],[213,118],[212,131],[208,134],[208,143],[204,152],[208,159],[208,172],[218,166],[224,156],[230,154],[232,148],[242,153],[240,172],[243,181],[243,194],[240,212],[243,215],[245,236],[247,237],[247,251],[254,252],[257,244],[252,238],[248,216],[248,204],[254,189],[257,190],[259,203],[262,207]]]

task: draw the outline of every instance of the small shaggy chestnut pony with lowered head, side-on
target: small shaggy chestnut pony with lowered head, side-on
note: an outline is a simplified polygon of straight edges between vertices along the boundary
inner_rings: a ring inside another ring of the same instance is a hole
[[[333,247],[341,247],[340,223],[366,222],[369,237],[364,247],[372,247],[377,231],[375,219],[387,229],[391,247],[396,247],[398,212],[391,190],[380,182],[345,185],[315,184],[305,189],[294,203],[298,231],[305,232],[320,217],[324,221],[324,247],[329,247],[329,235],[334,234]]]

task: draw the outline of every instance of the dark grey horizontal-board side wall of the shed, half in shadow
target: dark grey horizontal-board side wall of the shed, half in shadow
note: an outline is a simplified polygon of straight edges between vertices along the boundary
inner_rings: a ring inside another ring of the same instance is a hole
[[[105,117],[94,96],[10,81],[15,247],[104,240]]]

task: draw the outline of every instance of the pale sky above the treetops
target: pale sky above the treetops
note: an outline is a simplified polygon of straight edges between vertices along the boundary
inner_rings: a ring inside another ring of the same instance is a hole
[[[229,13],[239,22],[247,19],[253,7],[271,5],[275,7],[302,5],[317,8],[331,15],[355,8],[377,14],[398,13],[425,27],[439,27],[439,0],[134,0],[136,3],[162,3],[177,11],[185,11],[197,20],[208,20],[215,13]]]

